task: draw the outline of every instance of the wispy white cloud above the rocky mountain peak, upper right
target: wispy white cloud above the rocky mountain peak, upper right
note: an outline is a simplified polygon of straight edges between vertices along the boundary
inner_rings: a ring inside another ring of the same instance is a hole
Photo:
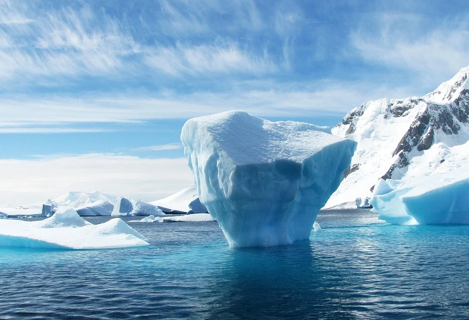
[[[436,87],[469,64],[468,18],[429,22],[417,14],[379,14],[350,39],[366,61],[400,69]]]

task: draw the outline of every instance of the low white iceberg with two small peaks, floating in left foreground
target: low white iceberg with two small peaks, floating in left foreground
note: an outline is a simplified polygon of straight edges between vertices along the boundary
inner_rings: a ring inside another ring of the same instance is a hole
[[[93,225],[69,207],[42,221],[0,221],[0,247],[109,249],[147,246],[147,239],[121,219]]]

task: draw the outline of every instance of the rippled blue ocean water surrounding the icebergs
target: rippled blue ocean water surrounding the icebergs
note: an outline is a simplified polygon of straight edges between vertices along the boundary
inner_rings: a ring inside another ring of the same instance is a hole
[[[129,223],[151,242],[137,249],[0,248],[0,318],[469,318],[469,226],[318,222],[275,248],[230,249],[217,223]]]

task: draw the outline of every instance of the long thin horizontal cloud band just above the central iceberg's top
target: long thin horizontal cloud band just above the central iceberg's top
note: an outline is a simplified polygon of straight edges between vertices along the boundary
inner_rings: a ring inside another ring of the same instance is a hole
[[[334,81],[309,84],[296,90],[282,88],[281,84],[270,84],[272,89],[265,90],[263,88],[267,85],[257,82],[243,86],[258,89],[187,95],[162,93],[159,96],[129,94],[0,99],[0,132],[47,131],[44,128],[47,123],[54,124],[50,131],[96,131],[93,127],[96,123],[188,119],[228,110],[245,110],[266,117],[342,117],[366,100],[416,95],[409,87],[389,88],[379,84]],[[79,128],[75,127],[77,123],[81,124]]]

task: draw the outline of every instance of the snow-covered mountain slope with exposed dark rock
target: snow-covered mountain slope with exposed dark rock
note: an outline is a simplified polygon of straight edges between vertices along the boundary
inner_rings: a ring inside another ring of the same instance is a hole
[[[354,108],[332,129],[358,143],[348,170],[325,207],[351,207],[371,196],[379,178],[419,178],[441,171],[469,141],[469,67],[423,97],[379,99]],[[469,158],[461,155],[462,165]]]

